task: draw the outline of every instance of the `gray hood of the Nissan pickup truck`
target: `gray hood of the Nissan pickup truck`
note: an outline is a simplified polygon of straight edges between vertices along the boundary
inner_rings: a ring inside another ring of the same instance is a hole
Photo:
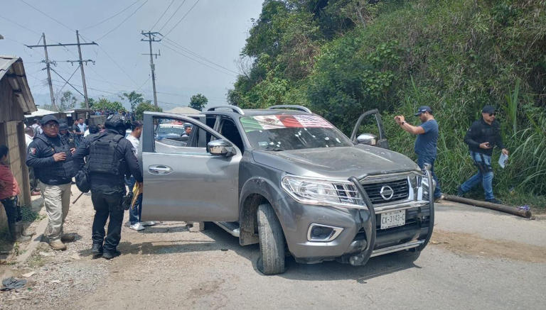
[[[252,155],[259,164],[303,177],[348,179],[368,174],[419,170],[405,155],[370,145],[281,152],[255,150]]]

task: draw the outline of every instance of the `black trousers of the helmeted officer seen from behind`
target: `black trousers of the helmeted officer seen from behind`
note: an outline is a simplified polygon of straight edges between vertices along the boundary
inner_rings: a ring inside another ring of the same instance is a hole
[[[92,240],[93,244],[103,245],[105,252],[116,250],[119,240],[122,238],[122,222],[124,209],[122,206],[122,194],[103,194],[102,192],[91,192],[91,201],[95,208],[95,219],[93,220]],[[108,234],[105,238],[105,225],[107,219]]]

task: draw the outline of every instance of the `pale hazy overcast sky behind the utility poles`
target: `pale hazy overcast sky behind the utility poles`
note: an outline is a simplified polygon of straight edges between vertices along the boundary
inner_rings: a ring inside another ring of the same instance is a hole
[[[95,60],[95,65],[84,67],[90,97],[117,99],[117,94],[139,90],[153,100],[149,56],[141,55],[149,53],[149,45],[141,42],[141,31],[159,31],[166,35],[153,45],[154,52],[161,51],[154,59],[159,106],[164,110],[187,106],[197,93],[207,96],[209,106],[215,106],[226,103],[225,94],[235,82],[236,60],[252,26],[251,18],[257,18],[261,9],[262,0],[2,1],[0,55],[22,57],[36,104],[49,104],[47,74],[41,63],[43,48],[30,49],[23,44],[37,45],[42,32],[48,44],[75,43],[75,31],[79,30],[82,40],[100,45],[82,46],[82,58]],[[75,46],[48,48],[48,55],[65,79],[77,69],[77,65],[63,62],[77,60]],[[65,83],[53,72],[52,79],[53,90],[58,92]],[[83,92],[80,70],[70,82]],[[68,85],[62,90],[77,94]]]

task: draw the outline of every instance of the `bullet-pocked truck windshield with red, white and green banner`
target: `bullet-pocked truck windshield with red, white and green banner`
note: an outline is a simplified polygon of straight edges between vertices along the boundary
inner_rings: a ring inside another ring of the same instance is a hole
[[[266,115],[241,118],[252,148],[301,150],[352,146],[338,128],[317,115]]]

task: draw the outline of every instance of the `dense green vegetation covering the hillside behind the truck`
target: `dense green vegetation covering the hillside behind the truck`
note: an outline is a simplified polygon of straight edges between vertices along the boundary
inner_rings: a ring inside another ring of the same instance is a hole
[[[265,0],[228,99],[309,106],[345,133],[378,108],[392,149],[412,157],[414,137],[392,117],[417,123],[417,106],[432,106],[437,174],[449,193],[475,170],[464,133],[493,104],[510,150],[508,167],[495,165],[496,194],[538,206],[546,201],[545,51],[545,1]]]

